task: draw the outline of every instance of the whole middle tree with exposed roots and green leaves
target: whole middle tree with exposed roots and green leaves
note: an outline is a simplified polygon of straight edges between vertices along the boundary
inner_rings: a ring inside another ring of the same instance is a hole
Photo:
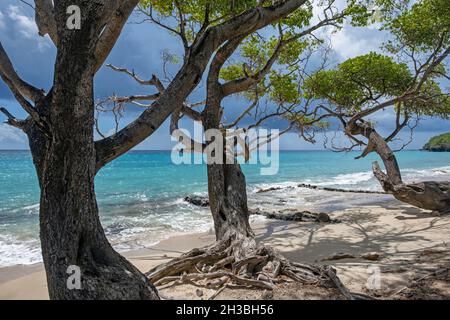
[[[222,131],[223,137],[219,139],[223,139],[223,145],[226,145],[225,130],[235,127],[243,117],[253,112],[260,99],[276,103],[279,108],[264,115],[256,113],[258,120],[253,125],[260,125],[267,118],[287,113],[290,108],[285,105],[292,108],[299,102],[298,92],[293,92],[297,85],[292,74],[304,67],[301,66],[304,62],[301,55],[312,47],[309,36],[321,27],[342,23],[344,18],[366,14],[365,8],[353,1],[343,11],[337,11],[333,3],[334,1],[330,1],[324,5],[324,17],[317,23],[310,22],[312,7],[297,10],[275,26],[275,30],[279,31],[278,38],[265,39],[260,34],[252,33],[236,37],[221,46],[211,59],[203,110],[196,111],[189,103],[180,106],[172,115],[171,130],[178,128],[178,120],[184,114],[200,122],[205,130]],[[179,18],[179,23],[182,24],[184,20]],[[238,62],[230,62],[238,48]],[[250,100],[251,105],[230,124],[225,124],[223,100],[236,94]],[[217,144],[216,140],[207,139],[203,143],[190,141],[186,137],[183,139],[187,140],[185,144],[188,149],[195,145],[201,152]],[[243,149],[247,157],[250,149],[248,144],[244,144]],[[238,284],[273,289],[273,283],[281,281],[280,276],[285,276],[302,283],[328,281],[343,288],[332,268],[292,263],[272,248],[257,245],[249,223],[245,176],[235,159],[236,150],[232,154],[226,153],[222,148],[214,150],[221,153],[219,158],[222,160],[220,163],[211,161],[207,165],[209,204],[216,243],[194,249],[180,258],[155,267],[147,273],[150,279],[157,285],[207,279],[214,282],[213,287],[217,288]],[[207,152],[207,155],[210,160],[217,158],[217,154]],[[346,297],[353,298],[348,291],[343,289],[343,292]]]

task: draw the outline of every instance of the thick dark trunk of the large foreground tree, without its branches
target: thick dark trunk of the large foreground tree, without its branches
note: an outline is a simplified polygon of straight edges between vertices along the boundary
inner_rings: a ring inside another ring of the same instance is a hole
[[[25,132],[36,167],[40,240],[51,299],[158,299],[148,279],[108,242],[95,196],[95,48],[107,6],[80,3],[81,30],[65,27],[63,1],[55,4],[58,51],[53,88],[36,102],[42,123],[27,120]],[[112,45],[111,45],[112,46]],[[72,289],[69,267],[80,270]],[[69,273],[68,273],[69,272]],[[70,283],[69,283],[70,284]]]

